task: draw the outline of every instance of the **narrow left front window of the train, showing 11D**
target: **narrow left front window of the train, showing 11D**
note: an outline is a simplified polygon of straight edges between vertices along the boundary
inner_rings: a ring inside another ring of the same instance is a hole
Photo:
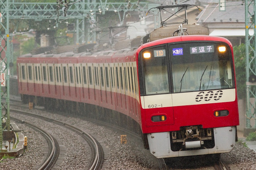
[[[168,50],[166,46],[154,47],[142,51],[142,71],[145,94],[161,94],[169,92]],[[142,83],[141,83],[142,84]]]

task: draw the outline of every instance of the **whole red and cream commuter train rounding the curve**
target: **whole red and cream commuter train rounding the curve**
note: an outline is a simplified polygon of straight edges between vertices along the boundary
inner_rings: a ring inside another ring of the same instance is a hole
[[[19,57],[22,100],[136,129],[157,158],[230,152],[239,125],[231,43],[163,29],[114,50]]]

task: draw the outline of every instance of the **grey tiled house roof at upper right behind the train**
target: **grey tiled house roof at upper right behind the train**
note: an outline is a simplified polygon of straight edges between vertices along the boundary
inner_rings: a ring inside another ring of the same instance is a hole
[[[219,7],[219,0],[212,0],[197,16],[197,23],[245,22],[245,5],[242,5],[242,1],[226,0],[225,11],[219,11]]]

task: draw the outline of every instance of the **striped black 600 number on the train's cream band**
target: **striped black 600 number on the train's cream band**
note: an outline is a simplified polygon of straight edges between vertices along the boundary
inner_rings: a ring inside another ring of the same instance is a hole
[[[222,90],[218,90],[217,92],[208,91],[207,93],[204,93],[203,91],[201,91],[200,93],[198,93],[198,95],[196,95],[195,101],[200,102],[202,100],[205,100],[206,102],[208,102],[211,99],[219,100],[222,97],[222,94],[223,94]]]

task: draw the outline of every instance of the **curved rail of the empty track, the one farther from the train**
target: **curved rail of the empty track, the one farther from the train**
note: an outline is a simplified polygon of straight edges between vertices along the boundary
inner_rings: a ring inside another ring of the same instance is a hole
[[[38,168],[38,170],[51,169],[56,163],[56,161],[58,160],[59,153],[60,153],[60,146],[59,146],[59,143],[56,141],[56,139],[54,139],[54,137],[51,134],[49,134],[48,132],[44,131],[43,129],[41,129],[40,127],[34,124],[22,121],[14,117],[10,117],[10,118],[14,121],[24,123],[27,126],[41,133],[41,135],[45,138],[45,140],[48,143],[49,150],[44,163]]]

